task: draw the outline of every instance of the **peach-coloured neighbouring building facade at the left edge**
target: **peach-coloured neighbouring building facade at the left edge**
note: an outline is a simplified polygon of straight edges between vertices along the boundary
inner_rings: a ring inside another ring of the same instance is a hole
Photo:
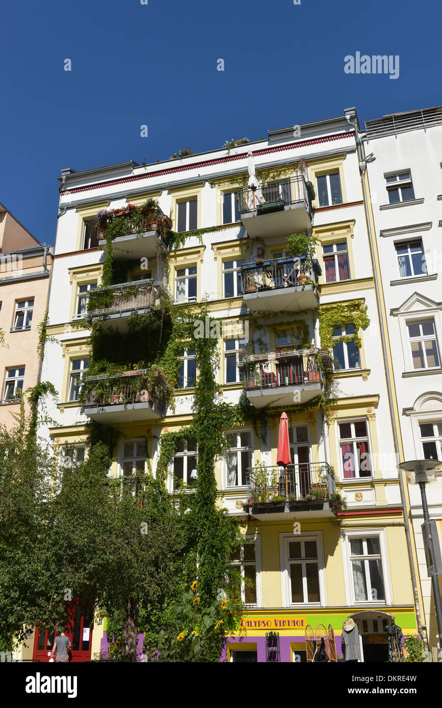
[[[21,392],[38,383],[38,325],[45,317],[53,247],[0,204],[0,424],[16,423]],[[28,404],[26,404],[28,407]]]

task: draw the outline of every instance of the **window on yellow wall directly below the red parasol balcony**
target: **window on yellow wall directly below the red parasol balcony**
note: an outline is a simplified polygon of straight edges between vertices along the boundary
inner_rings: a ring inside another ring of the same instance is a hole
[[[290,604],[319,603],[319,568],[316,539],[287,541]]]

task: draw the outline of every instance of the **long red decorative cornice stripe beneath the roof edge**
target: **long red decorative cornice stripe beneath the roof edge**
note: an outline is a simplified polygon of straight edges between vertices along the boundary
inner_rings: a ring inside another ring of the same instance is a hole
[[[354,131],[338,133],[337,135],[328,135],[327,137],[318,137],[312,140],[303,140],[302,142],[291,142],[288,145],[278,145],[277,147],[266,147],[262,150],[255,150],[253,152],[254,156],[259,155],[269,155],[273,152],[283,152],[284,150],[291,150],[294,147],[305,147],[307,145],[316,145],[322,142],[329,142],[330,140],[339,140],[343,137],[351,137],[354,135]],[[67,189],[64,191],[60,190],[62,195],[64,194],[77,194],[78,192],[87,192],[91,189],[99,189],[100,187],[111,187],[113,185],[125,184],[128,182],[137,182],[140,179],[146,179],[148,177],[159,177],[162,175],[174,174],[176,172],[185,172],[187,170],[198,169],[198,167],[209,167],[210,165],[220,165],[225,162],[233,162],[235,160],[243,160],[247,156],[246,153],[239,155],[228,155],[227,157],[219,157],[212,160],[204,160],[201,162],[194,162],[193,164],[181,165],[180,167],[169,167],[169,169],[158,170],[156,172],[145,172],[142,175],[133,175],[131,177],[123,177],[121,179],[113,179],[108,182],[97,182],[95,184],[87,185],[86,187],[74,187],[72,189]]]

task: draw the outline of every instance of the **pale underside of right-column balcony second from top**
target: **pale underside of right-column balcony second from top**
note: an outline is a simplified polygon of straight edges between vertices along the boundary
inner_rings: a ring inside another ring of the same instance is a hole
[[[244,292],[244,304],[251,312],[266,310],[266,312],[300,312],[305,309],[315,309],[319,306],[319,297],[313,290],[313,285],[293,285],[280,287],[276,290],[256,290]]]

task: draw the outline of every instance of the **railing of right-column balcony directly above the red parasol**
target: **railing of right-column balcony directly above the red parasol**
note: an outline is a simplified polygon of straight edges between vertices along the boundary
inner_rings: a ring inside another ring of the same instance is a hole
[[[239,364],[244,389],[277,389],[280,387],[305,387],[322,383],[322,369],[317,359],[319,350],[297,349],[271,354],[244,357]],[[327,352],[320,354],[322,367],[331,370]]]

